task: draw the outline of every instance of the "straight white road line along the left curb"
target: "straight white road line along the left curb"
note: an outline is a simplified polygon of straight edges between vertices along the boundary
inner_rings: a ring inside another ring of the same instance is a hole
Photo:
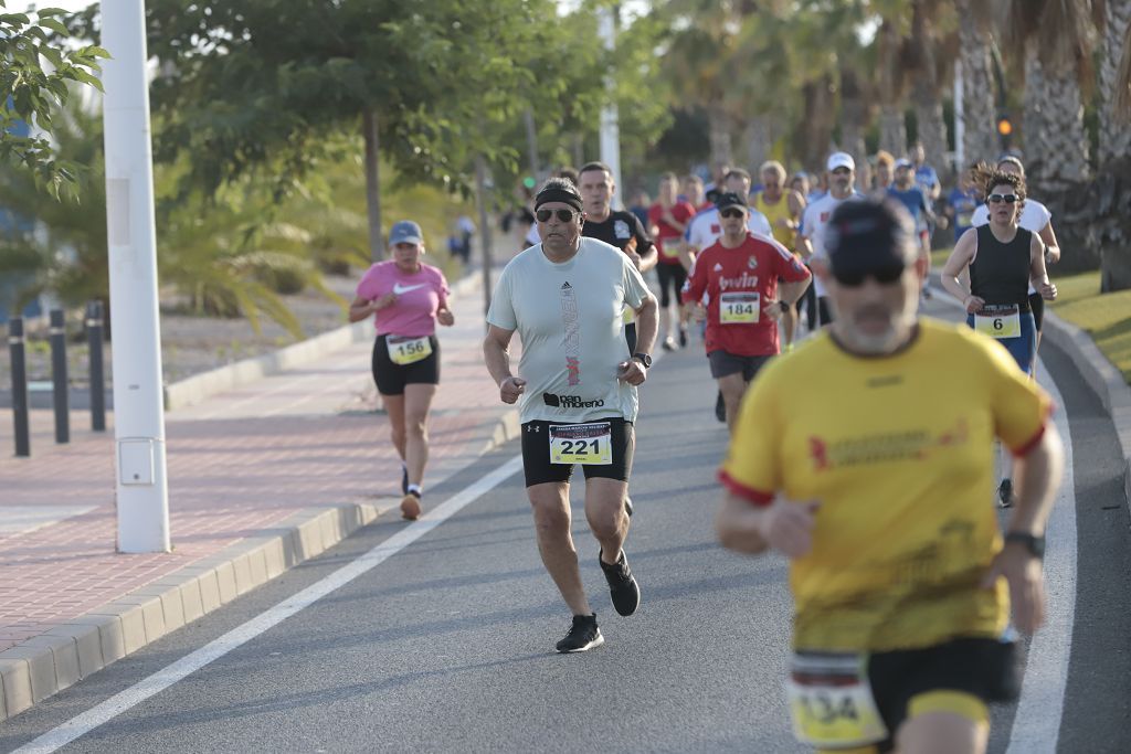
[[[150,696],[159,694],[173,684],[196,673],[209,662],[224,657],[232,650],[254,639],[265,631],[273,629],[295,613],[309,607],[330,592],[340,589],[357,577],[377,567],[389,557],[413,544],[432,529],[451,518],[460,509],[475,502],[523,468],[523,457],[518,456],[486,475],[475,484],[456,493],[443,504],[429,511],[418,521],[392,535],[373,549],[357,556],[347,565],[342,566],[321,581],[307,587],[302,591],[283,600],[266,613],[233,629],[219,639],[201,647],[191,655],[182,657],[176,662],[144,678],[129,688],[114,694],[97,707],[90,708],[57,728],[49,730],[38,738],[19,747],[14,754],[46,754],[54,752],[86,735],[95,728],[105,725],[122,712],[126,712]]]

